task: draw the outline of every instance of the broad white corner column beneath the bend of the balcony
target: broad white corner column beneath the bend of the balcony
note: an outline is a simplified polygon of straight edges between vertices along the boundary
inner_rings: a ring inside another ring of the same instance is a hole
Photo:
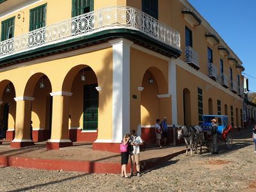
[[[130,133],[130,47],[132,42],[119,38],[113,45],[113,129],[112,141],[120,143]]]

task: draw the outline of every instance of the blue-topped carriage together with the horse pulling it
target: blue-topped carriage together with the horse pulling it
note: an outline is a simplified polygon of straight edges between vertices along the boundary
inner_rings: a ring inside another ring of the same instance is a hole
[[[213,143],[211,138],[212,124],[211,120],[215,118],[218,122],[217,136],[218,142],[224,141],[225,147],[229,150],[232,148],[232,135],[230,133],[231,125],[228,125],[228,116],[226,115],[203,115],[203,123],[201,125],[195,125],[191,127],[183,126],[178,129],[179,136],[184,137],[186,147],[188,148],[188,142],[192,150],[196,152],[200,147],[202,152],[202,146],[209,148],[209,151],[213,151]],[[186,151],[188,154],[188,150]]]

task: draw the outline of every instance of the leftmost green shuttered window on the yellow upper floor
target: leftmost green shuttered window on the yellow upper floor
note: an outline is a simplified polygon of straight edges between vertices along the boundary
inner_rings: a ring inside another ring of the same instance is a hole
[[[15,17],[12,17],[10,19],[3,20],[1,22],[1,41],[4,41],[8,38],[13,38],[14,36],[14,26],[15,24]]]

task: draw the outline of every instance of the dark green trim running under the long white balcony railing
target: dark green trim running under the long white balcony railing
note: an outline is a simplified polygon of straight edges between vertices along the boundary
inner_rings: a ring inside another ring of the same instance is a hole
[[[170,58],[178,58],[181,54],[179,49],[175,49],[174,47],[159,42],[158,40],[151,38],[150,36],[147,36],[140,31],[134,31],[131,29],[108,29],[93,33],[92,35],[81,36],[75,39],[67,40],[65,42],[45,45],[38,47],[37,49],[13,54],[11,56],[0,59],[0,65],[4,67],[5,65],[12,64],[13,62],[31,60],[33,57],[38,58],[41,56],[47,56],[47,54],[58,53],[58,51],[67,51],[67,49],[70,48],[76,49],[79,47],[88,47],[93,44],[108,42],[108,40],[113,38],[127,38],[135,44],[159,52],[160,54]]]

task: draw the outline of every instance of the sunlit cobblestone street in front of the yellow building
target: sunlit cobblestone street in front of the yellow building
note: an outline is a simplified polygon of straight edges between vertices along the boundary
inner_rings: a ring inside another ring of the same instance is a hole
[[[244,138],[244,136],[246,138]],[[0,168],[0,191],[256,191],[256,154],[250,132],[237,134],[232,150],[181,154],[141,177],[116,174]]]

